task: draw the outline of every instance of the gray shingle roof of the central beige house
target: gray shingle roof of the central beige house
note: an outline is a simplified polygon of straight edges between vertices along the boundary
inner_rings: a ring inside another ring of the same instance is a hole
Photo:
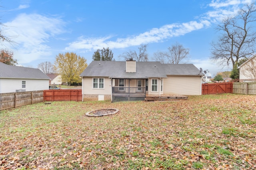
[[[81,77],[165,78],[167,75],[201,76],[193,64],[161,64],[158,61],[136,61],[136,73],[126,73],[126,61],[92,61]]]

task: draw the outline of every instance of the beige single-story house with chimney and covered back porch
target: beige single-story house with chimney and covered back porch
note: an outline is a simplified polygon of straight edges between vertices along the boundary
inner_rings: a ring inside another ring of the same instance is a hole
[[[92,61],[80,74],[83,101],[144,100],[146,95],[201,95],[204,74],[193,64]]]

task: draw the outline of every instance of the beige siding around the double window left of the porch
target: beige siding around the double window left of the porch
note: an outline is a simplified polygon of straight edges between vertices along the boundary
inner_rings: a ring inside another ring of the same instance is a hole
[[[93,89],[93,78],[104,78],[103,89]],[[83,77],[84,95],[111,95],[111,79],[108,77]]]

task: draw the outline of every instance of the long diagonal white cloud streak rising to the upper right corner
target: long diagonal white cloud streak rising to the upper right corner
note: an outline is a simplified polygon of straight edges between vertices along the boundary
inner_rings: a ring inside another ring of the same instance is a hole
[[[226,16],[234,15],[239,10],[239,5],[250,3],[252,0],[212,0],[208,5],[213,8],[199,18],[198,21],[190,21],[186,23],[175,23],[162,26],[160,28],[152,28],[148,32],[141,33],[127,38],[117,38],[114,36],[106,36],[100,38],[84,38],[80,37],[75,42],[68,44],[65,50],[96,50],[103,47],[125,48],[146,43],[161,42],[168,38],[183,36],[189,32],[208,28],[212,23],[219,22]],[[111,39],[111,40],[110,40]]]

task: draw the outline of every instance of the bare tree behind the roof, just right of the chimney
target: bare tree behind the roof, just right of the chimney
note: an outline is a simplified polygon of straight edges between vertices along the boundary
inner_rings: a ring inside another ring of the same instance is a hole
[[[124,58],[125,60],[134,59],[136,61],[148,61],[148,54],[146,53],[148,45],[140,45],[138,47],[138,53],[135,50],[129,50],[128,52],[124,52],[119,57]]]

